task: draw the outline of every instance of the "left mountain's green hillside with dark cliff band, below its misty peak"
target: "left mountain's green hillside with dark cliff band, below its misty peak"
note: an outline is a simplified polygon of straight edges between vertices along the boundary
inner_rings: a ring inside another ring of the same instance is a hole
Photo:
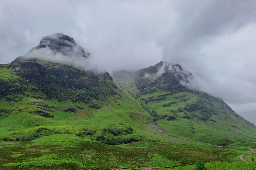
[[[27,65],[32,65],[31,69]],[[33,71],[39,68],[43,71]],[[30,81],[31,72],[43,80]],[[48,77],[43,77],[45,73]],[[69,79],[65,79],[67,75]],[[71,65],[24,61],[1,65],[0,76],[3,140],[19,140],[32,132],[40,137],[54,130],[87,138],[98,135],[99,140],[125,136],[114,145],[143,138],[157,140],[147,126],[151,116],[130,94],[119,89],[108,73],[96,75]],[[75,87],[71,87],[73,82]]]

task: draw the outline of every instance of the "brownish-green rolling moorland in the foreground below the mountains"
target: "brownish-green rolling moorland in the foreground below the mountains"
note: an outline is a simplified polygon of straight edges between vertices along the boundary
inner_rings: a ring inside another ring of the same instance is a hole
[[[141,141],[111,146],[74,134],[54,134],[28,142],[0,142],[0,149],[0,169],[170,167],[194,163],[198,158],[204,162],[229,162],[246,152],[245,146],[234,150],[179,140],[173,143]]]

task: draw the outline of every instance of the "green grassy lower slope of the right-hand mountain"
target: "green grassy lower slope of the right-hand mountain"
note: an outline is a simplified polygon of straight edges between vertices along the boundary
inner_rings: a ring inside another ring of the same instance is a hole
[[[159,93],[153,93],[150,95],[156,96],[158,94]],[[184,94],[186,94],[186,97],[180,97]],[[150,95],[143,95],[140,96],[140,98],[149,97]],[[178,97],[178,99],[175,97]],[[182,102],[180,99],[186,99],[186,102]],[[230,139],[234,142],[255,139],[255,128],[246,124],[241,117],[236,118],[233,115],[223,115],[219,112],[217,115],[212,115],[211,118],[206,121],[199,120],[193,116],[191,116],[190,119],[182,118],[186,115],[184,111],[179,112],[178,109],[184,108],[186,104],[194,103],[196,100],[197,96],[192,92],[179,92],[167,96],[164,100],[149,102],[147,105],[151,109],[156,110],[160,118],[162,118],[158,121],[158,124],[175,136],[183,136],[212,144],[218,144],[218,140],[221,142],[226,139]],[[170,101],[177,103],[171,104],[171,106],[162,106],[163,104],[170,103]],[[219,107],[219,110],[229,113],[227,108],[223,105],[221,106],[220,103],[212,102],[212,104],[216,108]],[[198,111],[193,111],[192,114],[197,115],[199,113]],[[176,119],[168,121],[166,118],[168,116],[175,116]]]

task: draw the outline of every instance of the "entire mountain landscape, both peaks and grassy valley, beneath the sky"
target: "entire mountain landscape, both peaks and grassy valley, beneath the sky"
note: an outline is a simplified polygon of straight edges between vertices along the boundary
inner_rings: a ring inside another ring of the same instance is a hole
[[[0,64],[0,169],[123,170],[197,159],[244,167],[237,155],[256,148],[255,126],[197,90],[180,65],[110,76],[74,64],[88,57],[73,38],[54,34]]]

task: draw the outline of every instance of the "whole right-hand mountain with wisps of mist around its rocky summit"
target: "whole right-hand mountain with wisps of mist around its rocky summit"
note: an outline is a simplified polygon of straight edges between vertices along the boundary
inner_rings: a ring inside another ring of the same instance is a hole
[[[136,73],[112,77],[169,135],[215,145],[255,140],[255,126],[222,99],[198,90],[193,75],[178,64],[159,62]],[[214,136],[214,137],[213,137]]]

